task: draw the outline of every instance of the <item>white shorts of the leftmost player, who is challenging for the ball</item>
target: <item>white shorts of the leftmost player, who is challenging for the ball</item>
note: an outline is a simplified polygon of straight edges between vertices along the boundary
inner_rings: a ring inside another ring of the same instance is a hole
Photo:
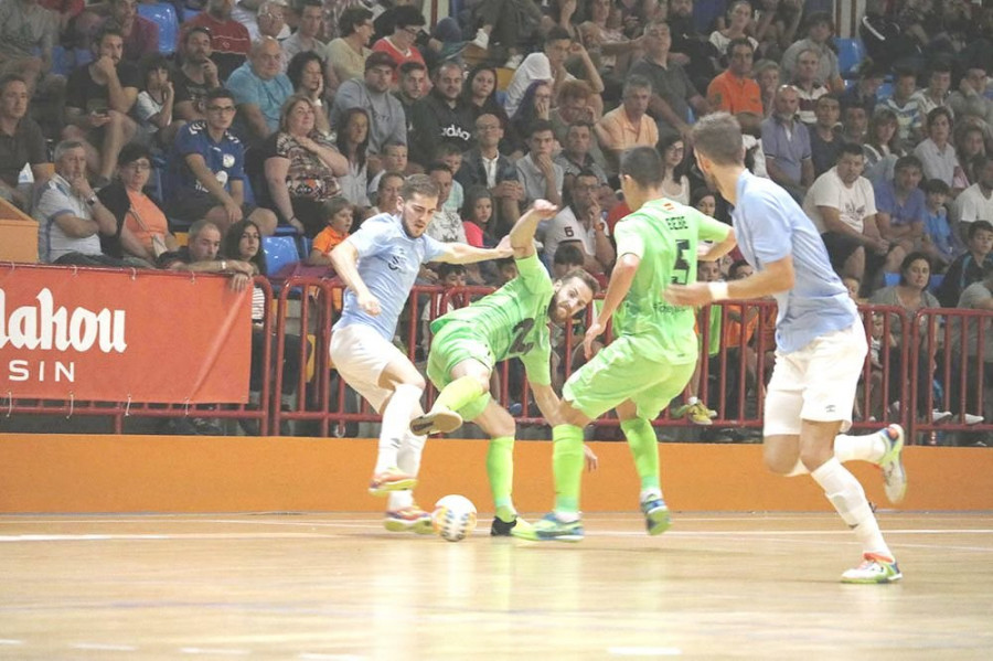
[[[380,386],[380,375],[397,359],[408,360],[367,326],[352,323],[331,334],[331,363],[376,413],[382,413],[383,402],[393,394],[392,390]]]

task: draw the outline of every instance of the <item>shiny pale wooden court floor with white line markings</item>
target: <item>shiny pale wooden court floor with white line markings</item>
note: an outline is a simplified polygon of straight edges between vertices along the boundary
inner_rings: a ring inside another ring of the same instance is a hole
[[[580,544],[369,514],[0,518],[2,659],[990,659],[993,514],[880,513],[905,578],[842,585],[829,514],[587,518]]]

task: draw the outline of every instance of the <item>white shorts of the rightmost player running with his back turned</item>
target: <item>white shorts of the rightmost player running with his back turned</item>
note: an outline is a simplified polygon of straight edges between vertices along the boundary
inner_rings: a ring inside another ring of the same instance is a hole
[[[852,424],[855,388],[868,350],[861,321],[792,353],[776,352],[766,394],[766,436],[800,434],[800,422]]]

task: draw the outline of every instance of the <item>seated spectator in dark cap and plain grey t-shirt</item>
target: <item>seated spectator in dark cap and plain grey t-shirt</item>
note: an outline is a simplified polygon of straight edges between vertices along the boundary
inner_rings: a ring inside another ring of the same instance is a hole
[[[334,95],[331,126],[338,128],[350,108],[369,113],[369,151],[381,153],[388,142],[407,143],[407,122],[399,100],[389,94],[396,63],[386,53],[375,52],[365,61],[365,77],[345,81]]]

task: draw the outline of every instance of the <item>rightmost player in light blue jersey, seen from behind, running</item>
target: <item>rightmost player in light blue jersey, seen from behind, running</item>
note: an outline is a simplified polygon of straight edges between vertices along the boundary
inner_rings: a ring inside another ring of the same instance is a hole
[[[899,580],[865,491],[842,466],[852,459],[877,463],[886,495],[894,502],[904,498],[899,425],[868,436],[839,435],[852,422],[865,362],[866,333],[857,309],[831,269],[813,222],[783,189],[745,169],[737,120],[726,113],[704,117],[693,128],[693,145],[707,183],[734,206],[735,236],[755,274],[733,282],[674,286],[666,297],[690,306],[776,298],[776,366],[762,430],[766,466],[787,477],[810,473],[855,532],[864,562],[842,574],[843,582]]]

